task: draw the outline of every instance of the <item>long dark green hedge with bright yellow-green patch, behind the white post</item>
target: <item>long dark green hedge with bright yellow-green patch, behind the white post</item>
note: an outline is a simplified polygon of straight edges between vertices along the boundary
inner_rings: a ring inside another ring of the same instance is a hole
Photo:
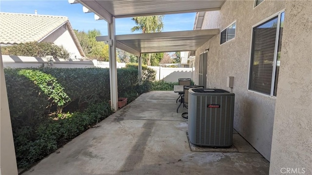
[[[144,72],[143,84],[138,85],[137,68],[117,69],[119,97],[131,102],[149,91],[155,71],[146,67]],[[8,68],[5,77],[11,116],[17,119],[33,121],[44,113],[83,111],[89,103],[110,98],[109,69]]]

